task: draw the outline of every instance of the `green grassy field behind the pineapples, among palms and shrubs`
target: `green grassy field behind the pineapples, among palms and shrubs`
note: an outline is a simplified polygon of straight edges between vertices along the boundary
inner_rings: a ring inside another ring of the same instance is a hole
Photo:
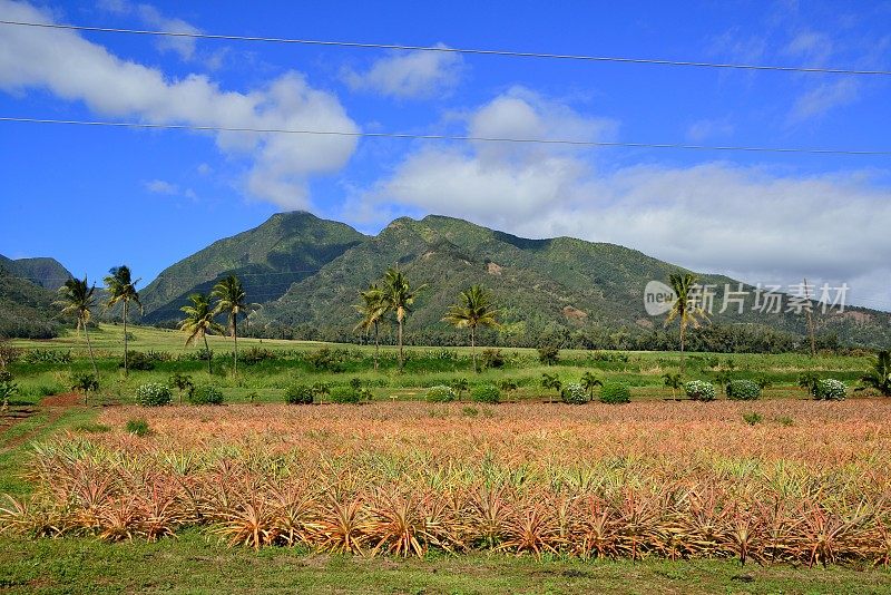
[[[542,365],[533,349],[502,349],[503,363],[474,372],[468,348],[407,348],[405,370],[399,372],[396,350],[381,348],[380,370],[374,371],[371,345],[337,345],[302,341],[275,341],[241,339],[242,353],[239,374],[232,373],[231,339],[210,336],[214,352],[214,373],[208,374],[206,361],[197,359],[200,349],[185,348],[183,335],[176,331],[133,328],[130,349],[155,358],[153,370],[138,371],[125,378],[121,329],[101,325],[91,333],[100,372],[100,399],[105,402],[133,402],[136,388],[146,382],[166,382],[175,372],[193,377],[196,383],[209,383],[222,389],[228,402],[281,402],[284,389],[294,383],[346,386],[358,378],[375,399],[418,400],[424,389],[435,384],[448,384],[467,379],[470,387],[480,383],[500,383],[510,380],[517,390],[506,394],[508,400],[546,399],[556,397],[541,388],[544,372],[556,373],[564,383],[576,382],[586,371],[601,380],[621,381],[631,387],[635,399],[665,399],[675,394],[664,387],[663,374],[677,372],[681,357],[676,352],[594,352],[564,350],[557,365]],[[89,360],[82,339],[68,334],[49,341],[12,341],[14,348],[25,352],[61,355],[70,354],[71,361],[59,363],[18,361],[10,367],[21,387],[19,400],[36,402],[41,397],[62,392],[70,387],[72,373],[89,372]],[[333,364],[316,365],[312,362],[320,350],[330,350]],[[249,363],[252,351],[265,358]],[[714,380],[721,373],[740,379],[766,379],[772,387],[766,397],[805,397],[797,388],[802,372],[815,372],[821,377],[835,378],[848,383],[855,380],[870,367],[870,358],[819,355],[810,358],[797,353],[786,354],[702,354],[686,357],[686,379]]]

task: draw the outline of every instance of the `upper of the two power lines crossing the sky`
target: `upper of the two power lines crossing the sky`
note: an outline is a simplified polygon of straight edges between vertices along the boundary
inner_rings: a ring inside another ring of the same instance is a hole
[[[360,49],[391,49],[400,51],[435,51],[442,53],[467,53],[478,56],[506,56],[512,58],[545,58],[557,60],[577,60],[588,62],[616,62],[616,64],[636,64],[636,65],[650,65],[650,66],[681,66],[693,68],[724,68],[735,70],[773,70],[781,72],[810,72],[810,74],[828,74],[828,75],[866,75],[866,76],[891,76],[891,70],[859,70],[848,68],[817,68],[817,67],[803,67],[803,66],[776,66],[776,65],[752,65],[752,64],[732,64],[732,62],[706,62],[693,60],[666,60],[653,58],[624,58],[617,56],[586,56],[579,53],[547,53],[536,51],[512,51],[512,50],[497,50],[497,49],[472,49],[472,48],[449,48],[442,46],[405,46],[400,43],[366,43],[359,41],[326,41],[320,39],[293,39],[282,37],[260,37],[260,36],[235,36],[235,35],[217,35],[217,33],[200,33],[200,32],[185,32],[185,31],[157,31],[147,29],[117,29],[111,27],[90,27],[80,25],[62,25],[50,22],[29,22],[29,21],[8,21],[0,20],[0,25],[16,26],[16,27],[37,27],[43,29],[66,29],[72,31],[90,31],[100,33],[129,33],[141,36],[161,36],[161,37],[180,37],[192,39],[215,39],[224,41],[263,41],[270,43],[294,43],[303,46],[327,46],[341,48],[360,48]]]

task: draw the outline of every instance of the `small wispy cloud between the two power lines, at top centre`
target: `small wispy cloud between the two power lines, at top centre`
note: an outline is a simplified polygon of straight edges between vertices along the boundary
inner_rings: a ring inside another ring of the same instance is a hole
[[[444,48],[442,43],[438,47]],[[353,90],[374,91],[386,97],[428,98],[454,87],[461,76],[461,56],[444,51],[401,51],[375,61],[364,72],[350,68],[343,80]]]

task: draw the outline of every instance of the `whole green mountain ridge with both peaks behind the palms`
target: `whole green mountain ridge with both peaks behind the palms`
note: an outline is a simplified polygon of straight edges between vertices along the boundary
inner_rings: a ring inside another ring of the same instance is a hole
[[[389,266],[401,267],[412,283],[425,283],[411,315],[417,343],[450,344],[464,340],[441,321],[457,294],[473,283],[492,290],[502,309],[498,334],[487,342],[576,347],[646,344],[673,347],[662,319],[646,314],[643,291],[650,280],[666,280],[678,266],[624,246],[572,237],[529,240],[454,217],[400,217],[376,236],[310,213],[273,215],[268,221],[206,248],[165,270],[143,292],[145,322],[172,324],[187,295],[207,291],[225,274],[242,276],[248,300],[263,306],[252,315],[249,332],[323,340],[356,340],[353,304],[358,292]],[[721,275],[699,275],[718,287],[738,283]],[[803,316],[765,315],[745,310],[713,316],[707,331],[722,349],[747,333],[746,341],[800,343]],[[880,347],[891,342],[891,315],[852,308],[819,316],[826,344]],[[772,334],[773,333],[773,334]],[[712,345],[714,347],[714,345]]]

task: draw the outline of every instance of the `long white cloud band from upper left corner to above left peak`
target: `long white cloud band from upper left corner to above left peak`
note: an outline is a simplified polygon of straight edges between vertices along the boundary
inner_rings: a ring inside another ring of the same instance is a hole
[[[4,19],[48,22],[27,3],[0,0]],[[104,117],[158,124],[239,128],[320,128],[358,131],[336,96],[315,89],[300,72],[262,88],[227,91],[204,75],[182,79],[124,60],[76,32],[0,29],[0,89],[47,89],[82,101]],[[218,133],[221,150],[246,157],[247,189],[284,208],[306,208],[310,176],[336,172],[355,150],[352,137]]]

